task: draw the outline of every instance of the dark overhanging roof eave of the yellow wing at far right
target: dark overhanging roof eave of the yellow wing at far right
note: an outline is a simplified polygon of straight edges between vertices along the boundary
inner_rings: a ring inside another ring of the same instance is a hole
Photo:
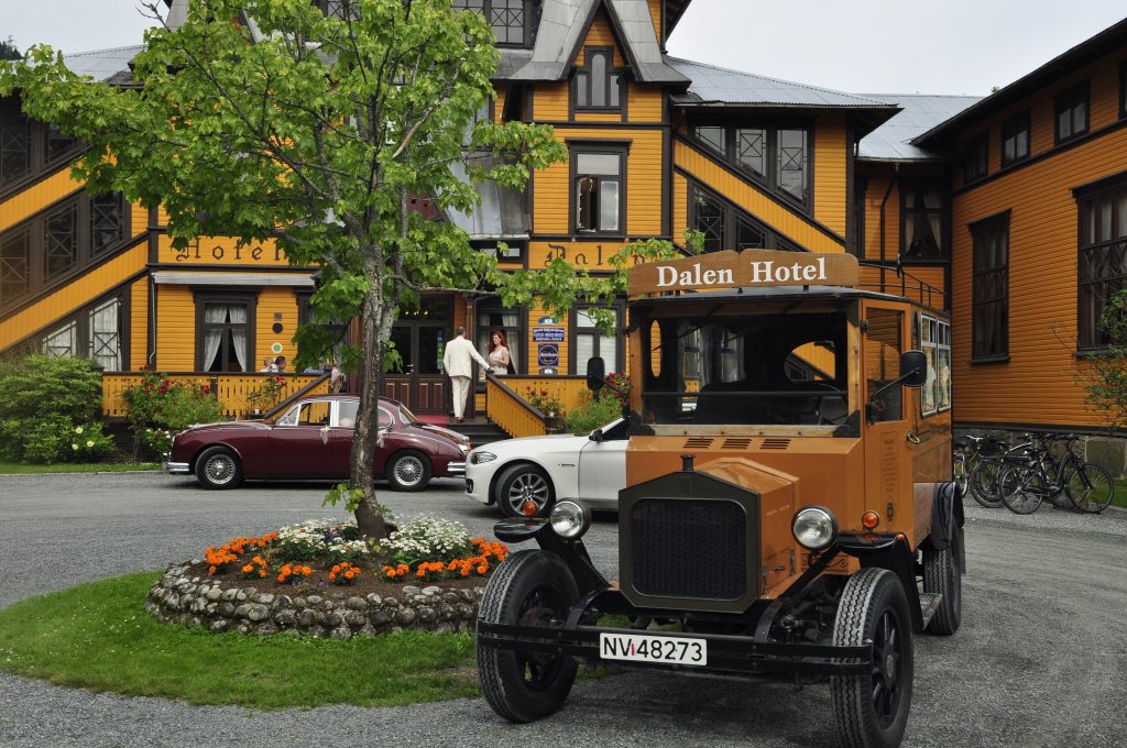
[[[937,137],[966,126],[973,121],[980,121],[992,114],[1017,104],[1051,81],[1075,72],[1077,69],[1100,57],[1122,48],[1127,44],[1127,18],[1109,26],[1071,50],[1058,54],[1033,72],[1019,78],[1005,88],[987,96],[977,104],[967,107],[956,116],[921,133],[913,139],[913,144],[925,144]]]

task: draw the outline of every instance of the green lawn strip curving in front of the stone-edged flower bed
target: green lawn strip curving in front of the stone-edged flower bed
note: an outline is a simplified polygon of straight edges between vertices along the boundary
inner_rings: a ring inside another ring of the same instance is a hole
[[[159,577],[117,577],[0,611],[0,669],[99,692],[258,709],[393,706],[479,693],[470,634],[347,642],[211,634],[144,612]]]

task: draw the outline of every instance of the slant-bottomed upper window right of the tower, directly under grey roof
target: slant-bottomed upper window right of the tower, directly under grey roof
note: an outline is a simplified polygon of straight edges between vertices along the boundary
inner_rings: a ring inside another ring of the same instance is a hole
[[[771,192],[810,204],[810,130],[807,127],[726,127],[696,125],[693,137],[747,172]]]

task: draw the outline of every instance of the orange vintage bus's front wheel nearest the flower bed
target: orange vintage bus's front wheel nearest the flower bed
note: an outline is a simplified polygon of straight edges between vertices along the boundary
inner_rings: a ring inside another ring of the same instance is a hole
[[[479,617],[486,623],[558,629],[579,598],[575,578],[554,553],[514,553],[490,578]],[[559,710],[571,693],[570,657],[496,649],[478,640],[478,678],[486,701],[511,722],[531,722]]]

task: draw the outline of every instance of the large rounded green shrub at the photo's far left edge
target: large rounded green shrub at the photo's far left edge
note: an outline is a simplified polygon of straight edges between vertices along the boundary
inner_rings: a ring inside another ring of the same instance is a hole
[[[0,365],[0,455],[19,462],[97,462],[114,451],[101,430],[101,374],[83,358],[28,356]]]

